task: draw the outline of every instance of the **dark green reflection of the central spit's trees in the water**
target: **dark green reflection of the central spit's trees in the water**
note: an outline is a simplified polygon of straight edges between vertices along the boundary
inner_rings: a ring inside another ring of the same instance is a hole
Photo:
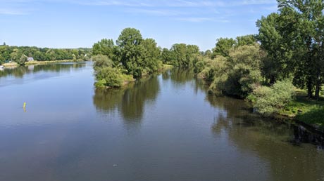
[[[141,79],[122,89],[96,89],[93,97],[98,112],[103,114],[118,110],[126,123],[139,123],[145,105],[154,104],[160,83],[156,74]]]

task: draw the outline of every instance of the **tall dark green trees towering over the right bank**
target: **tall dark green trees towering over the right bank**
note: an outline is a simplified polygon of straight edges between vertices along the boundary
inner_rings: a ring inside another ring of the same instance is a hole
[[[258,20],[268,83],[293,76],[295,86],[318,100],[324,76],[323,11],[323,1],[278,0],[278,13]]]

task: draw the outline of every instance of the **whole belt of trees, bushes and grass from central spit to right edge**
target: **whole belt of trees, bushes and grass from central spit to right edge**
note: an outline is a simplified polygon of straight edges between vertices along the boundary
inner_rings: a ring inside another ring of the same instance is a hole
[[[324,128],[320,97],[324,76],[324,5],[322,1],[278,0],[278,13],[256,22],[258,34],[220,38],[212,51],[174,44],[170,49],[123,29],[94,43],[96,86],[120,87],[163,64],[193,68],[209,92],[252,103],[264,116],[282,114]]]

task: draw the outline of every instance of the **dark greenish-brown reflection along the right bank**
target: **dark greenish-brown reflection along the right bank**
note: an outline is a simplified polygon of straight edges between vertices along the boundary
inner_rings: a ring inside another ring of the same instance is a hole
[[[273,180],[324,178],[323,150],[314,152],[310,148],[313,145],[292,146],[292,142],[309,142],[314,134],[301,131],[299,126],[251,114],[239,100],[210,96],[207,100],[211,105],[225,110],[216,117],[213,133],[216,137],[225,133],[241,152],[257,155],[270,163]]]

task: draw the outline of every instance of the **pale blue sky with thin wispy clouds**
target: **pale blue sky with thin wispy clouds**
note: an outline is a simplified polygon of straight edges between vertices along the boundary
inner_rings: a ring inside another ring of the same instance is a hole
[[[0,0],[0,43],[90,48],[134,27],[162,48],[206,51],[220,37],[257,34],[256,20],[276,11],[275,0]]]

